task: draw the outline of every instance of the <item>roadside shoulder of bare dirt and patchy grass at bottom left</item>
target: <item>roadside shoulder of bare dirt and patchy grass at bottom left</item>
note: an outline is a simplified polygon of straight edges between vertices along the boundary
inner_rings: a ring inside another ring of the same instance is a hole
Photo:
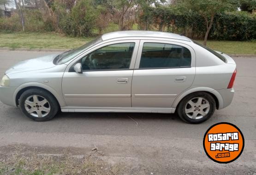
[[[136,160],[135,160],[136,161]],[[0,147],[0,175],[123,175],[145,174],[132,158],[108,157],[97,147]],[[132,174],[133,174],[132,173]]]

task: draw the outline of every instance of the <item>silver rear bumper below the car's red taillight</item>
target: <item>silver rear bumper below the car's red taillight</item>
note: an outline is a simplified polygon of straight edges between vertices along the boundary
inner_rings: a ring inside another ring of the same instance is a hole
[[[233,100],[235,90],[231,88],[231,89],[220,89],[216,91],[220,93],[223,99],[223,105],[220,105],[219,109],[223,109],[224,107],[229,106]]]

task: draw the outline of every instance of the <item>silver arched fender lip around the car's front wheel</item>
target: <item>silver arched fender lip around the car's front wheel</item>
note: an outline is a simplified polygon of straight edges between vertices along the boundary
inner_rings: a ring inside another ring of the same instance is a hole
[[[18,92],[20,90],[24,89],[24,88],[27,88],[27,87],[39,87],[39,88],[48,90],[49,92],[51,92],[55,96],[55,98],[57,99],[57,101],[60,104],[60,107],[65,107],[66,106],[65,100],[62,96],[62,93],[58,93],[52,87],[50,87],[48,85],[45,85],[43,83],[39,83],[39,82],[24,83],[24,84],[18,86],[18,88],[14,91],[13,97],[12,97],[12,100],[13,100],[14,103],[16,102],[16,96],[17,96]]]

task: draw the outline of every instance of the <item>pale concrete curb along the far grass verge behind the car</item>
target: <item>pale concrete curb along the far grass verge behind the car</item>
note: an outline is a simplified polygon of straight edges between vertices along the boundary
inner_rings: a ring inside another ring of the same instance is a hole
[[[62,52],[68,51],[70,49],[29,49],[29,48],[11,48],[11,47],[0,47],[0,51],[52,51],[52,52]],[[227,54],[231,57],[256,57],[256,54]]]

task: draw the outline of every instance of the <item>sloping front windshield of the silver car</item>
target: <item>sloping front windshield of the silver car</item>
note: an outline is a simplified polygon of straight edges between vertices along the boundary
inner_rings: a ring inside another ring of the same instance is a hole
[[[90,42],[86,43],[85,45],[78,47],[77,49],[63,52],[55,58],[55,59],[57,59],[57,60],[55,60],[55,64],[63,64],[65,62],[68,62],[75,56],[79,55],[81,52],[89,49],[93,45],[100,43],[101,41],[102,40],[101,40],[101,36],[100,36],[94,40],[91,40]]]

